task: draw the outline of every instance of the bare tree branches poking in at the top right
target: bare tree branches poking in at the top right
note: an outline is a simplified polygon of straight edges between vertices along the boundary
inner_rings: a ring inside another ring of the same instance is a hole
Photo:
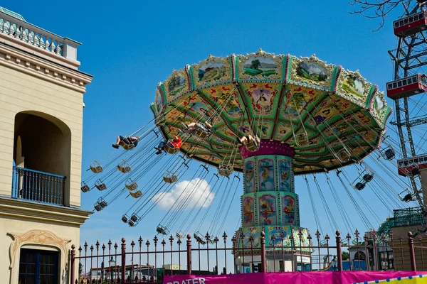
[[[379,18],[379,27],[374,31],[379,31],[385,23],[386,16],[389,15],[399,4],[407,4],[404,6],[411,6],[412,3],[416,5],[415,0],[351,0],[351,6],[357,6],[351,14],[360,14],[365,18]],[[406,8],[405,7],[405,8]]]

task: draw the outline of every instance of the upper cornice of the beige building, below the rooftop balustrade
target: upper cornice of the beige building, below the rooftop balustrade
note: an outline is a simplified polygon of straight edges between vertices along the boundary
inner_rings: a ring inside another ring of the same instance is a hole
[[[41,80],[59,84],[82,94],[86,92],[86,85],[92,82],[91,75],[45,60],[6,43],[0,44],[0,65],[38,77]]]

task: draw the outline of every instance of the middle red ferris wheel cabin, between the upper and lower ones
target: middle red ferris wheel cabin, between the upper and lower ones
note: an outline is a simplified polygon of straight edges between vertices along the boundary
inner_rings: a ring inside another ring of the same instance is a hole
[[[417,74],[387,83],[387,97],[401,99],[427,91],[426,76]]]

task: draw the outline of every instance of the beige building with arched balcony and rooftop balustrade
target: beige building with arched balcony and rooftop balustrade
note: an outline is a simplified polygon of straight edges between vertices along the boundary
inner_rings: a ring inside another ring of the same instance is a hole
[[[0,7],[0,283],[67,283],[80,209],[80,43]],[[78,268],[75,268],[76,273]]]

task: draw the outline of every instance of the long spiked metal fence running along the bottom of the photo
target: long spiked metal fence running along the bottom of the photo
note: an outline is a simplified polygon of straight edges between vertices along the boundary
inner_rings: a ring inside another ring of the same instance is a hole
[[[417,236],[418,240],[414,244],[411,233],[408,233],[405,238],[407,241],[404,241],[403,237],[396,240],[392,234],[387,239],[376,236],[374,231],[371,232],[369,239],[367,234],[363,237],[359,235],[356,230],[354,236],[347,234],[342,238],[337,231],[334,241],[330,242],[330,236],[325,235],[324,238],[320,238],[320,232],[317,231],[315,239],[308,236],[309,246],[305,247],[301,246],[302,234],[296,236],[300,238],[298,246],[276,246],[275,244],[283,244],[284,236],[266,239],[263,231],[260,233],[259,245],[257,244],[256,247],[253,246],[255,239],[251,236],[235,234],[232,239],[227,239],[226,233],[221,239],[213,238],[209,234],[206,234],[206,239],[195,238],[196,244],[193,244],[194,241],[190,235],[186,236],[186,240],[174,239],[172,235],[165,236],[167,239],[158,239],[155,236],[154,239],[145,242],[142,237],[139,237],[137,241],[130,242],[130,248],[127,247],[129,243],[126,243],[125,238],[122,238],[121,244],[113,244],[110,240],[107,244],[101,245],[97,241],[95,245],[89,246],[85,242],[78,250],[74,245],[72,246],[70,283],[162,283],[165,275],[216,275],[295,270],[416,271],[417,265],[418,268],[422,266],[422,270],[425,269],[424,253],[427,247],[423,246],[423,241],[427,241],[426,236]],[[282,238],[281,243],[280,238]],[[273,245],[266,245],[266,241]],[[243,242],[246,246],[239,246]],[[78,256],[76,256],[77,251]],[[351,257],[349,261],[342,260],[343,252],[346,251],[349,251]],[[352,255],[352,251],[357,253]],[[305,261],[302,260],[303,258]],[[307,260],[308,258],[310,260]],[[108,265],[105,265],[106,263]],[[167,263],[170,265],[168,266]],[[292,263],[292,270],[285,268],[285,265],[290,266],[290,263]],[[346,265],[343,266],[343,263]],[[183,269],[183,266],[186,267]],[[78,273],[75,273],[75,268],[78,268]]]

